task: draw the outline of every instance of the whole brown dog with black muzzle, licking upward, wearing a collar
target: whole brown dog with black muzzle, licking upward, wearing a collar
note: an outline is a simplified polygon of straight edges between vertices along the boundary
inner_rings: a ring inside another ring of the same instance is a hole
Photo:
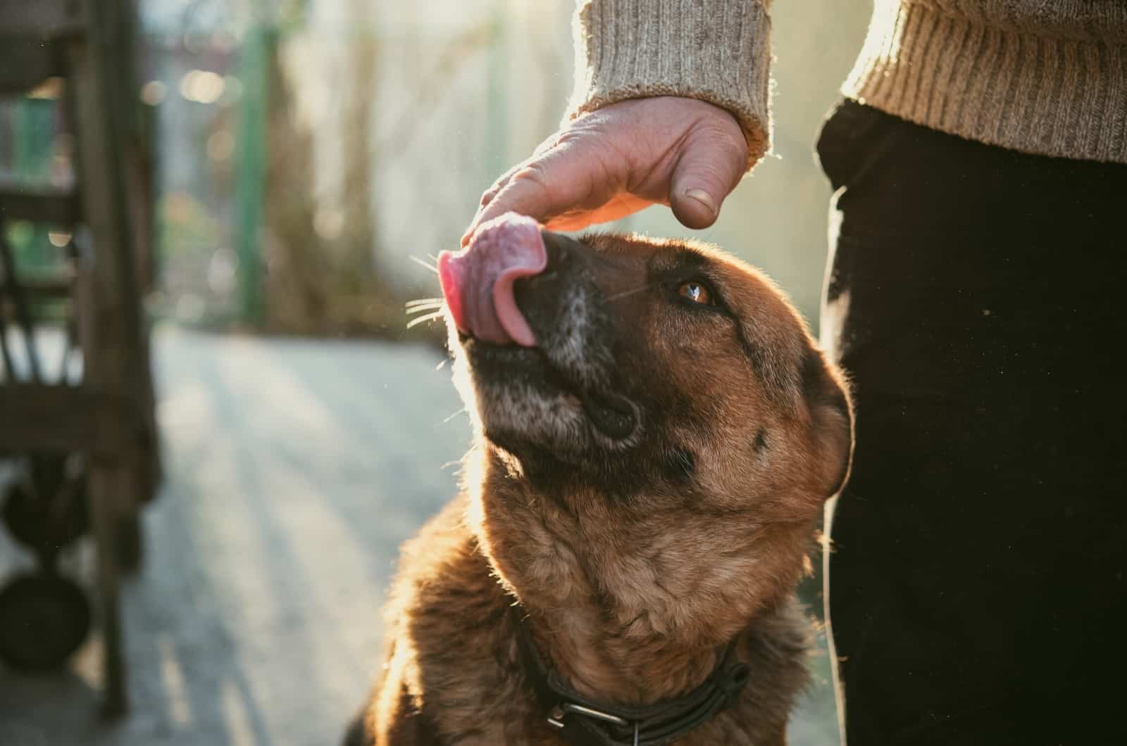
[[[440,270],[474,445],[347,743],[783,744],[852,437],[799,316],[699,243],[512,215]]]

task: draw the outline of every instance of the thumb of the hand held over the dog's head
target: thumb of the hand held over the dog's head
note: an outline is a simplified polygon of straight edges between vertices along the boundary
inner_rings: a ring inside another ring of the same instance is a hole
[[[727,134],[703,132],[684,145],[669,179],[669,206],[683,225],[708,228],[747,167],[747,144]]]

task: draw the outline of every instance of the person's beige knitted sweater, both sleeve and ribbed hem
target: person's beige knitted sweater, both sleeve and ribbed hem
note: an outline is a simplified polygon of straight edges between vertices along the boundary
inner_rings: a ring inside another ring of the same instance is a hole
[[[754,165],[770,146],[770,5],[580,0],[568,116],[699,98],[736,116]],[[875,0],[842,92],[969,140],[1127,163],[1127,0]]]

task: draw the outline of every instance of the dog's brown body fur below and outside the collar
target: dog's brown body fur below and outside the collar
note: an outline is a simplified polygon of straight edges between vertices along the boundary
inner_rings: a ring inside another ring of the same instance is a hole
[[[465,525],[465,505],[452,503],[405,548],[388,609],[388,666],[365,716],[369,732],[387,740],[356,744],[565,744],[524,682],[514,601]],[[678,743],[786,741],[787,713],[807,678],[797,604],[761,614],[737,649],[749,684]]]

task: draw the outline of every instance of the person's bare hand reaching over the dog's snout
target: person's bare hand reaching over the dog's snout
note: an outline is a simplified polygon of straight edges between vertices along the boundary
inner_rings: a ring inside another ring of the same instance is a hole
[[[483,195],[462,237],[506,212],[579,230],[651,204],[708,228],[747,169],[747,141],[727,110],[693,98],[619,101],[569,122]]]

